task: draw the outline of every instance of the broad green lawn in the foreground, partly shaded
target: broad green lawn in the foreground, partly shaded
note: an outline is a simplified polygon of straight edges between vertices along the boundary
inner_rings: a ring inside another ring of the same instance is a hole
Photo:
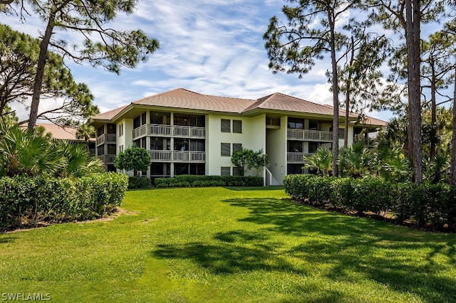
[[[129,191],[111,221],[0,235],[0,294],[52,302],[456,302],[456,236],[282,188]]]

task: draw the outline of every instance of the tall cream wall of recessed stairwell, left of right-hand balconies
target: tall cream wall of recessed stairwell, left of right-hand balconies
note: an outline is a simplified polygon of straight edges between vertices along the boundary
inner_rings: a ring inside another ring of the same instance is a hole
[[[281,117],[279,129],[266,129],[266,133],[268,169],[276,181],[275,184],[273,182],[268,185],[282,185],[284,184],[284,176],[286,176],[286,117]]]

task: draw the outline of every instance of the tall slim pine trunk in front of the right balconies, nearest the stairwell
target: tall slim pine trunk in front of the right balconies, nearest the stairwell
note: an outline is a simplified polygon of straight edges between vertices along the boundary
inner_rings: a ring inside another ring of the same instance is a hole
[[[338,157],[339,157],[339,97],[338,97],[338,77],[336,62],[336,35],[335,35],[335,18],[331,9],[328,9],[328,21],[331,31],[331,68],[333,73],[333,176],[339,175]]]

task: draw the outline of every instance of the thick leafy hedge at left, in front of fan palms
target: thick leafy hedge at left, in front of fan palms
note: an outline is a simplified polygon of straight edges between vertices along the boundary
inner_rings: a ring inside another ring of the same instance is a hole
[[[0,178],[0,230],[41,220],[86,220],[113,211],[125,196],[128,176],[93,174],[77,179]]]

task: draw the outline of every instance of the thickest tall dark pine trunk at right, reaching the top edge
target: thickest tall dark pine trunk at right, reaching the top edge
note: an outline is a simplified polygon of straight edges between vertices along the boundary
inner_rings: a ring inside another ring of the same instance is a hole
[[[423,182],[420,106],[420,0],[405,0],[408,50],[409,146],[413,156],[413,181]]]

